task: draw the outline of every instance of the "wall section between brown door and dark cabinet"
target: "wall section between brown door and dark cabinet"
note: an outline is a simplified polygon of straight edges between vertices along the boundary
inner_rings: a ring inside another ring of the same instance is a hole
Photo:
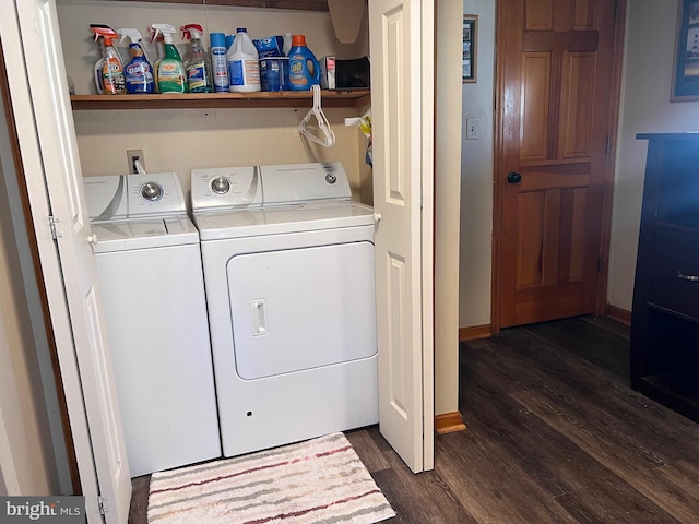
[[[631,310],[648,143],[637,133],[699,131],[699,102],[671,103],[679,0],[627,8],[607,300]]]

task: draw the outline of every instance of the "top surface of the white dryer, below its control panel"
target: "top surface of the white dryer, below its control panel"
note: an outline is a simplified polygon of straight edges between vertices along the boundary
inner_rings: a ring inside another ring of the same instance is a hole
[[[348,201],[315,201],[236,211],[196,211],[201,240],[374,225],[374,210]]]

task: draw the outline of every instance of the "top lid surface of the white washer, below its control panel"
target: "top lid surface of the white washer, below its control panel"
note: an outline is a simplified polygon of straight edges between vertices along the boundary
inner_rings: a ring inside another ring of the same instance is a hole
[[[97,236],[95,253],[199,242],[197,228],[186,216],[92,224],[91,228]]]

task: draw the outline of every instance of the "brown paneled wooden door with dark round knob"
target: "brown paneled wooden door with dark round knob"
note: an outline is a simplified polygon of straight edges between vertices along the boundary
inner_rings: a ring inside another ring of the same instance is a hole
[[[614,0],[498,1],[501,327],[604,305],[621,19]]]

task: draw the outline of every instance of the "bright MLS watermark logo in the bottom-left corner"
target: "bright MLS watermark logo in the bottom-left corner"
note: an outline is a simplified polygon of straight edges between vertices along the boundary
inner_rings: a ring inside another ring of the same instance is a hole
[[[0,497],[2,524],[84,524],[84,497]]]

